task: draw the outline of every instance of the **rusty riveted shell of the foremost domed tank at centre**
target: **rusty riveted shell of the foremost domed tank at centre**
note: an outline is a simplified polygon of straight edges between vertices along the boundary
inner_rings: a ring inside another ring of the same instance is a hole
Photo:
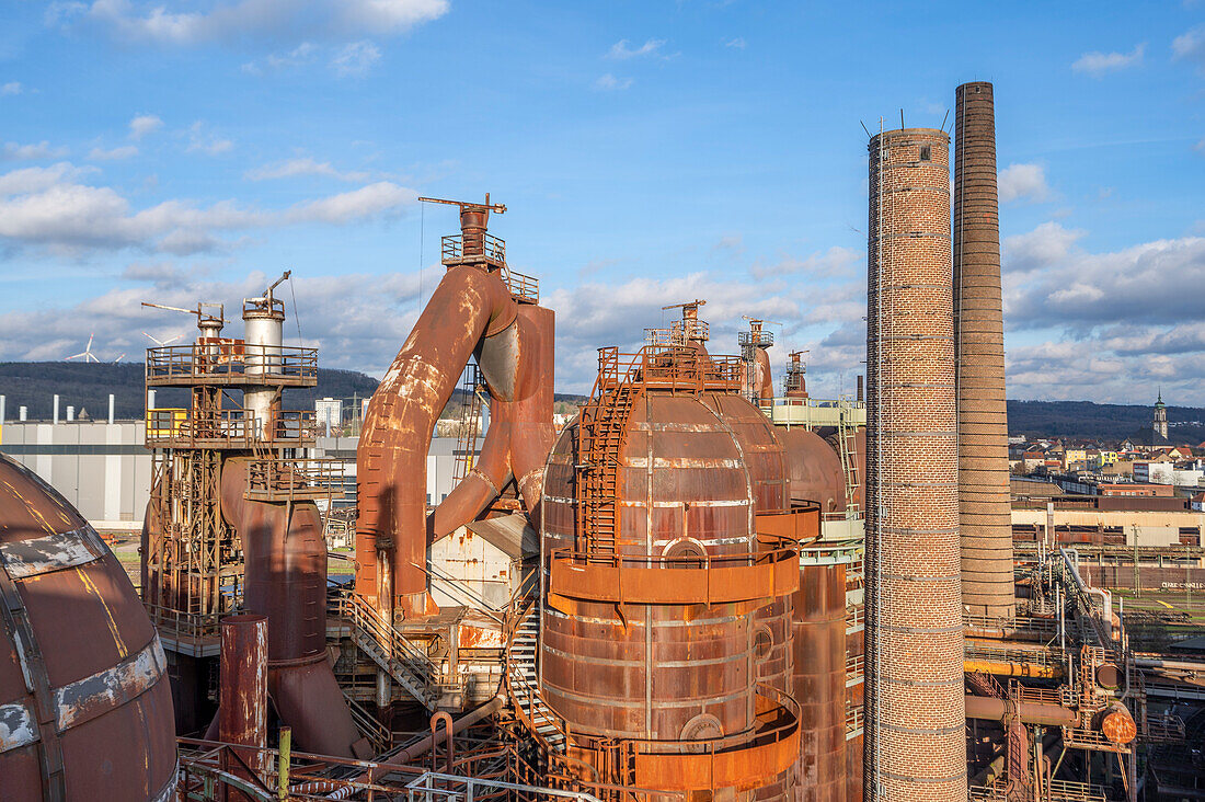
[[[572,449],[566,429],[553,462],[571,463]],[[557,509],[575,494],[563,481],[563,472],[546,479],[546,554],[574,546],[572,514]],[[756,550],[750,470],[731,428],[694,396],[645,393],[628,420],[617,484],[621,554]],[[541,638],[545,697],[575,731],[675,742],[753,726],[753,605],[633,605],[623,617],[613,604],[580,607],[575,615],[546,607]]]

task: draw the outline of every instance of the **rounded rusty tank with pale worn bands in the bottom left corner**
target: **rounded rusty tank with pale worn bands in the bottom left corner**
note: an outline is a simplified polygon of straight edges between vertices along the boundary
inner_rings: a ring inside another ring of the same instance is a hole
[[[0,797],[172,798],[159,637],[87,521],[5,456],[0,597]]]

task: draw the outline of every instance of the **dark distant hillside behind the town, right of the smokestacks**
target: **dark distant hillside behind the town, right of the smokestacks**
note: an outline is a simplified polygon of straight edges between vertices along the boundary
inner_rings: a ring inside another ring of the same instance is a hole
[[[1010,400],[1009,433],[1122,440],[1139,428],[1150,428],[1152,414],[1150,405]],[[1205,440],[1205,409],[1168,406],[1168,437],[1188,445]]]

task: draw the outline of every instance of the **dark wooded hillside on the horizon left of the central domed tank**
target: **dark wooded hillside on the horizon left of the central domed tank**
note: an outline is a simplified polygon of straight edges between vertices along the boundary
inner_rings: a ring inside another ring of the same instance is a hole
[[[377,380],[354,370],[318,369],[318,386],[286,391],[287,409],[313,409],[318,398],[342,398],[348,404],[353,397],[368,398],[377,388]],[[0,362],[0,396],[6,397],[6,416],[17,418],[20,406],[29,408],[29,420],[51,420],[54,416],[54,394],[59,396],[59,414],[66,417],[67,406],[76,414],[87,412],[92,418],[108,415],[108,394],[116,396],[116,415],[120,420],[136,420],[143,412],[143,367],[140,362],[112,364],[82,362]],[[571,411],[586,400],[583,396],[557,393],[557,410]],[[457,388],[445,414],[455,415],[464,404],[463,391]],[[158,388],[158,406],[187,406],[183,390]]]

